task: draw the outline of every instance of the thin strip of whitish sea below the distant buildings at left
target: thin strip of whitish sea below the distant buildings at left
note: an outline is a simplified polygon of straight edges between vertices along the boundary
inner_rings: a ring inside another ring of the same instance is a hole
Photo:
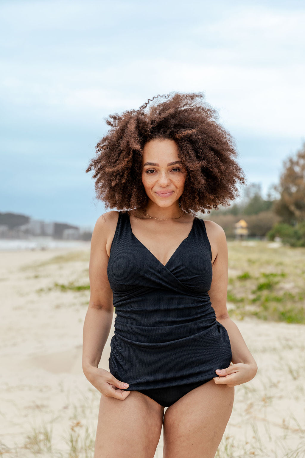
[[[80,250],[90,250],[90,241],[54,240],[51,237],[32,237],[31,239],[0,239],[0,251],[52,250],[56,248],[79,248]]]

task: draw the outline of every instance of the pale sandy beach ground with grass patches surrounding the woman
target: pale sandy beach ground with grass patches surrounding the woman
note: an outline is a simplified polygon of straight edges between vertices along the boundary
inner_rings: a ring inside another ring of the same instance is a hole
[[[258,371],[235,387],[215,458],[305,457],[305,249],[270,246],[228,241],[228,309]],[[23,259],[19,269],[2,266],[2,299],[12,316],[3,328],[2,354],[13,369],[5,372],[4,359],[0,456],[93,458],[101,393],[86,380],[81,363],[75,374],[56,371],[61,347],[65,354],[81,345],[89,253],[44,252],[25,270]],[[63,356],[67,364],[73,352]],[[20,365],[23,354],[28,368]],[[32,354],[43,356],[45,365],[38,359],[33,366]],[[162,437],[155,458],[162,458]]]

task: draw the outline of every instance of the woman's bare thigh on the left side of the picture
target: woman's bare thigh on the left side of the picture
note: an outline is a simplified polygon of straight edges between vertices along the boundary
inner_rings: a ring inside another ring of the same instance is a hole
[[[164,408],[138,391],[127,398],[101,395],[94,458],[153,458]]]

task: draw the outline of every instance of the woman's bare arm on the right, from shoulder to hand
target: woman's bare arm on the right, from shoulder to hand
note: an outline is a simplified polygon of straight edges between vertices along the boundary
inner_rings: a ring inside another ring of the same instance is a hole
[[[246,342],[240,330],[231,320],[227,310],[228,247],[225,231],[219,224],[209,221],[209,224],[207,224],[207,233],[208,236],[210,235],[209,240],[211,240],[210,244],[212,253],[214,254],[214,261],[212,263],[213,280],[208,293],[215,311],[216,320],[221,323],[228,332],[233,363],[229,368],[223,369],[221,373],[219,373],[220,376],[216,377],[214,380],[216,383],[228,383],[230,380],[232,383],[231,386],[233,386],[251,380],[257,373],[257,364],[246,346]],[[233,374],[237,372],[238,376],[233,376]]]

